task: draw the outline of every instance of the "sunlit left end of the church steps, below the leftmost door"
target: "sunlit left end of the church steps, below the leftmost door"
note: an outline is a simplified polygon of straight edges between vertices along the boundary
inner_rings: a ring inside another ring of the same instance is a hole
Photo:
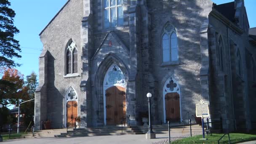
[[[53,138],[55,135],[60,135],[61,133],[67,133],[67,131],[73,131],[73,128],[35,131],[33,137],[34,138]]]

